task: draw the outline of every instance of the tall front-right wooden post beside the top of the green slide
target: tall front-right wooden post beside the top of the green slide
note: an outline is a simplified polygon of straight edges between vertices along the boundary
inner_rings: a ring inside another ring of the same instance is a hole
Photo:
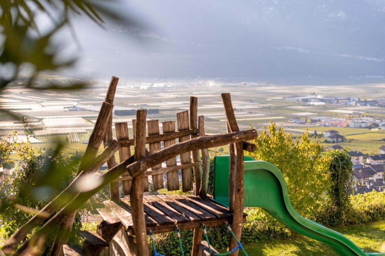
[[[228,123],[228,128],[231,132],[239,131],[237,121],[234,115],[233,105],[229,93],[222,93],[222,100],[224,105],[224,112]],[[235,153],[235,186],[234,186],[234,211],[233,224],[231,228],[238,240],[241,240],[242,224],[243,224],[243,199],[244,199],[244,170],[243,170],[243,143],[234,143]],[[231,160],[231,158],[230,158]],[[231,164],[230,164],[231,166]],[[229,184],[230,185],[230,184]],[[233,237],[230,237],[229,248],[232,249],[237,246],[237,242]],[[238,251],[231,255],[237,256]]]

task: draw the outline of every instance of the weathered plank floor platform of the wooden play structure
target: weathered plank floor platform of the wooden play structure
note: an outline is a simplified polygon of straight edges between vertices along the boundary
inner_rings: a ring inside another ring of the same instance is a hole
[[[211,199],[202,199],[192,195],[152,195],[144,196],[144,215],[146,229],[154,233],[180,229],[198,228],[201,224],[208,227],[221,226],[225,221],[231,223],[233,214],[229,209]],[[134,234],[130,201],[121,198],[119,202],[105,201],[105,209],[98,209],[102,218],[115,223],[117,219],[127,228],[129,234]],[[243,216],[246,222],[246,213]]]

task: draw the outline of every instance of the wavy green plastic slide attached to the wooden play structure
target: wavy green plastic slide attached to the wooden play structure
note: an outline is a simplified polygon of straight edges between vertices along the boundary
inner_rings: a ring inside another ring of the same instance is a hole
[[[229,156],[214,158],[214,200],[229,205]],[[346,236],[298,214],[291,206],[282,173],[271,163],[244,156],[244,207],[261,207],[288,228],[321,241],[340,255],[365,253]]]

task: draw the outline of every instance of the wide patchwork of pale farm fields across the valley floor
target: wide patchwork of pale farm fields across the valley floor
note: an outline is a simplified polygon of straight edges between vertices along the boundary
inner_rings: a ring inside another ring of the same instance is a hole
[[[151,87],[152,83],[164,82],[168,83],[165,87]],[[104,78],[91,83],[93,85],[89,88],[77,91],[37,91],[18,86],[9,87],[0,95],[0,108],[12,112],[20,119],[22,115],[27,117],[28,128],[32,131],[33,137],[41,141],[36,143],[36,146],[54,145],[56,142],[66,143],[70,148],[76,148],[81,154],[84,147],[82,142],[89,139],[109,80]],[[147,90],[141,89],[142,85],[146,85]],[[196,96],[198,97],[198,115],[205,116],[206,133],[224,133],[226,118],[220,93],[229,92],[240,129],[248,129],[252,125],[261,130],[263,126],[269,124],[269,121],[273,121],[278,125],[282,124],[287,132],[297,136],[306,130],[306,125],[293,123],[290,121],[293,118],[306,119],[317,116],[347,118],[349,113],[357,111],[365,116],[385,118],[385,108],[341,104],[309,105],[302,101],[283,100],[282,97],[316,94],[325,97],[338,95],[372,99],[375,95],[375,98],[385,98],[385,90],[380,90],[381,88],[384,88],[384,85],[286,86],[253,81],[248,81],[244,85],[235,80],[160,81],[122,78],[117,87],[114,108],[119,110],[156,109],[159,113],[149,113],[147,119],[157,119],[161,124],[162,121],[176,120],[176,113],[189,110],[189,98]],[[23,123],[20,119],[13,119],[6,114],[0,115],[3,115],[0,122],[0,135],[3,136],[12,130],[23,131]],[[129,136],[133,138],[132,120],[135,118],[135,115],[113,115],[113,135],[115,136],[115,123],[127,122]],[[382,145],[380,140],[385,138],[385,131],[312,125],[307,127],[310,132],[316,130],[318,133],[338,130],[346,137],[346,142],[341,143],[342,146],[360,150],[366,154],[378,153],[378,148]],[[325,146],[329,144],[325,143]],[[221,147],[214,150],[218,151],[219,148]],[[228,147],[222,148],[221,153],[228,152]]]

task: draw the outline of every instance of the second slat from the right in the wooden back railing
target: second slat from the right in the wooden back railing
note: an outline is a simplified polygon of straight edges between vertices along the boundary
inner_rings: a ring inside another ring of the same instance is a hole
[[[163,133],[174,132],[175,121],[162,122],[162,128],[163,128]],[[174,144],[175,144],[175,139],[164,141],[165,148]],[[176,157],[172,157],[166,160],[167,167],[175,166],[175,165],[176,165]],[[168,191],[179,190],[179,176],[178,176],[177,170],[167,172],[167,190]]]

